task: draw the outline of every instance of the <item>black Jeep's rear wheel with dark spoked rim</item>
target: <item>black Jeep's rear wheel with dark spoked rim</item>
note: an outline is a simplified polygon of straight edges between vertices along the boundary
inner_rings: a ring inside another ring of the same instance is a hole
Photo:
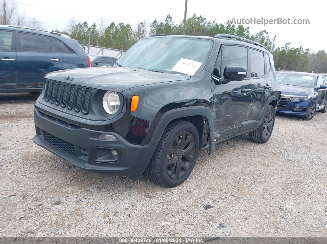
[[[274,129],[275,124],[275,109],[271,105],[267,106],[264,119],[260,126],[254,131],[250,132],[250,140],[257,143],[266,143]]]

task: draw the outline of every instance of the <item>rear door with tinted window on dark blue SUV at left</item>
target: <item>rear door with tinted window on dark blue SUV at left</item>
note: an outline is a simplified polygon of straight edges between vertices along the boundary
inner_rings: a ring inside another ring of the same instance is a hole
[[[17,34],[17,88],[42,87],[45,74],[62,69],[62,56],[47,36]]]

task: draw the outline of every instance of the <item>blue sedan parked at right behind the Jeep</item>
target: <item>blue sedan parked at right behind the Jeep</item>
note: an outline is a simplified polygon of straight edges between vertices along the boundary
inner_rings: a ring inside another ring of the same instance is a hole
[[[327,85],[323,75],[280,72],[277,77],[282,90],[277,112],[311,120],[316,111],[327,111]]]

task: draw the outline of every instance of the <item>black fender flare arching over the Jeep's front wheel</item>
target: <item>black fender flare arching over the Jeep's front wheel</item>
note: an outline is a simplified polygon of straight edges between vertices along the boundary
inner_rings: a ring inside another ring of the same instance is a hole
[[[159,141],[163,135],[164,129],[171,121],[179,118],[183,118],[187,116],[195,116],[195,115],[204,116],[208,121],[209,133],[210,133],[209,155],[212,155],[215,151],[214,123],[212,119],[211,109],[204,106],[189,106],[189,107],[182,107],[182,108],[175,108],[172,110],[168,110],[161,116],[156,126],[156,129],[152,135],[151,141]]]

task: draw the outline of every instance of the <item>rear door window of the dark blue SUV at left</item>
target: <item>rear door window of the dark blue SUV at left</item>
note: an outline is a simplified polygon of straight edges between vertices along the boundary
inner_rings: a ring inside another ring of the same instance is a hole
[[[46,36],[19,33],[19,50],[31,52],[52,52],[51,42]]]

